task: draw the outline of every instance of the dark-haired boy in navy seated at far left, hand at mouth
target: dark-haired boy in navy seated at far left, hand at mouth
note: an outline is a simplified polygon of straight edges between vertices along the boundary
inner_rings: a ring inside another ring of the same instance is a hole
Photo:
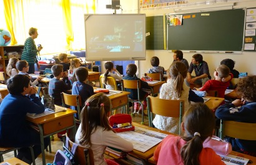
[[[44,105],[36,97],[36,88],[30,86],[26,75],[15,75],[7,81],[9,94],[0,105],[0,146],[21,148],[17,158],[31,164],[29,146],[33,146],[34,156],[41,154],[40,134],[29,126],[27,113],[43,113]],[[44,147],[50,139],[44,138]]]

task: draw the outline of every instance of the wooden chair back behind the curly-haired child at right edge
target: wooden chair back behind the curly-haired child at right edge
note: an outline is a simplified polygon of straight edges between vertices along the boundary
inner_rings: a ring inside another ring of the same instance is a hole
[[[256,123],[220,121],[220,138],[229,136],[237,139],[256,140]]]

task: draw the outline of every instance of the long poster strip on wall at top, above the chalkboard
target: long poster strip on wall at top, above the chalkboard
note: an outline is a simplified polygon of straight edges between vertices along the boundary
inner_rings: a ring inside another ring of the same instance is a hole
[[[168,7],[185,4],[184,0],[140,0],[140,9],[153,9],[155,7]]]

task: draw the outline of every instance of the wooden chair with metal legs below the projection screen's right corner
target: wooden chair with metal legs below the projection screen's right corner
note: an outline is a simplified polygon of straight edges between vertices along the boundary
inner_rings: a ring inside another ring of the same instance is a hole
[[[134,103],[139,103],[142,106],[141,124],[144,125],[144,106],[142,103],[144,99],[140,99],[140,80],[121,80],[121,84],[122,84],[122,91],[126,91],[126,88],[137,90],[138,100],[132,100],[129,98],[129,101],[132,103],[132,111],[134,111]],[[133,112],[132,112],[132,115],[134,115]]]

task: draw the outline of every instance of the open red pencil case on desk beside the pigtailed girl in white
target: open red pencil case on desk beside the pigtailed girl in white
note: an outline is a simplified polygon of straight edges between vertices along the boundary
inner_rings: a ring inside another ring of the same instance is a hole
[[[129,123],[127,126],[118,128],[117,125],[123,124],[123,123]],[[119,132],[124,131],[133,131],[135,128],[132,125],[132,116],[129,114],[116,114],[109,117],[109,125],[111,125],[112,129]]]

